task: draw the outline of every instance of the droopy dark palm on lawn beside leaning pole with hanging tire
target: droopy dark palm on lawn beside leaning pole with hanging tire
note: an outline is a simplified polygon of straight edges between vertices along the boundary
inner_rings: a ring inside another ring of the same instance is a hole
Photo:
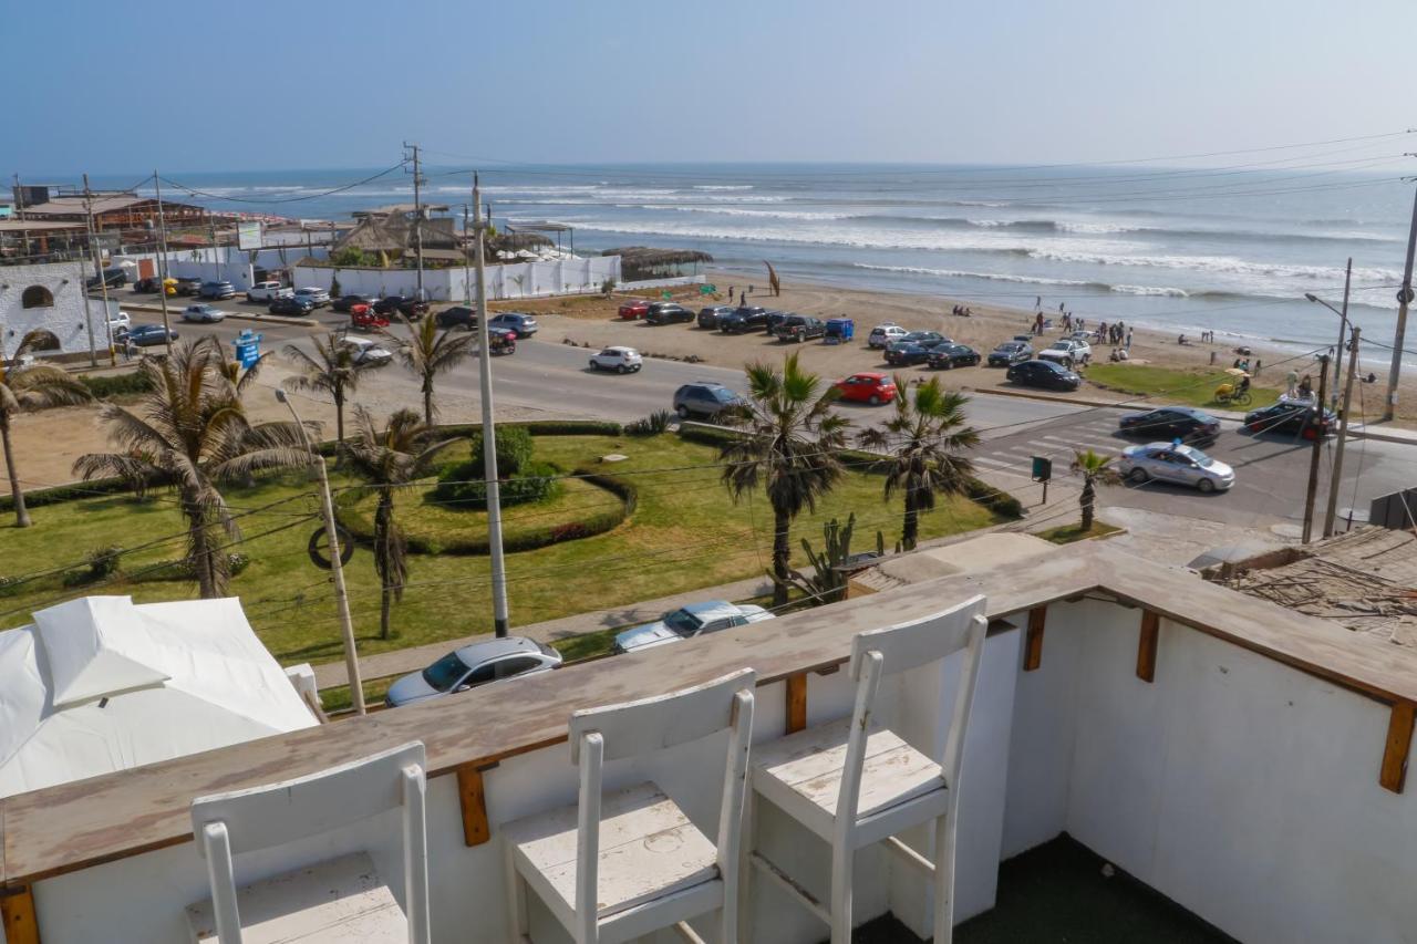
[[[400,410],[383,431],[364,407],[354,408],[356,435],[341,446],[349,471],[364,479],[378,495],[374,510],[374,570],[383,585],[378,638],[388,639],[388,611],[402,600],[408,580],[408,556],[404,530],[394,520],[394,489],[429,473],[438,452],[458,442],[435,442],[434,431],[412,410]]]

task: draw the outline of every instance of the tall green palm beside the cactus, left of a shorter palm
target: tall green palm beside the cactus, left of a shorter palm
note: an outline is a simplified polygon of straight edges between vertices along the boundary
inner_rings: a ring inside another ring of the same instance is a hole
[[[723,483],[737,502],[761,483],[772,506],[772,602],[786,602],[788,530],[802,509],[842,476],[836,452],[846,445],[847,420],[830,411],[836,387],[822,388],[816,374],[791,354],[777,373],[765,363],[748,364],[748,400],[720,414],[740,432],[718,449]]]

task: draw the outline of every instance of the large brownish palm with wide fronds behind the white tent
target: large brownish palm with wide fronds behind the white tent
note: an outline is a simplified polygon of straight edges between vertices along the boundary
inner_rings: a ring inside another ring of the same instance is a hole
[[[214,337],[173,347],[163,360],[145,357],[139,370],[152,391],[140,412],[108,404],[99,414],[119,451],[92,452],[74,463],[84,479],[118,475],[136,488],[176,489],[187,519],[187,560],[204,598],[225,594],[230,577],[230,557],[215,544],[213,529],[239,536],[218,483],[310,461],[295,427],[247,421],[224,364]]]

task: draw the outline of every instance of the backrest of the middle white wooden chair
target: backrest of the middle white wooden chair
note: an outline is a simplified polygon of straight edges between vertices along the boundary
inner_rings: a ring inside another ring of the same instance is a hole
[[[571,761],[581,771],[577,818],[577,941],[598,940],[601,785],[605,760],[622,760],[697,741],[730,729],[723,802],[718,809],[717,859],[726,907],[737,901],[738,832],[752,743],[752,686],[757,673],[740,669],[704,685],[638,702],[609,704],[571,716]]]

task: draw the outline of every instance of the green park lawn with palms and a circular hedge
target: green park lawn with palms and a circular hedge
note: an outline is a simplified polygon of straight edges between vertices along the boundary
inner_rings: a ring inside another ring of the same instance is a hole
[[[571,469],[582,465],[606,473],[628,475],[639,489],[635,515],[604,534],[553,544],[507,557],[507,587],[513,625],[538,622],[588,609],[614,608],[684,592],[697,587],[752,577],[768,566],[771,509],[762,495],[735,505],[718,483],[713,448],[665,435],[652,439],[628,437],[537,437],[537,458]],[[628,461],[597,466],[597,458],[621,452]],[[449,462],[462,459],[459,448]],[[336,486],[349,485],[334,475]],[[578,483],[580,485],[580,483]],[[509,529],[520,516],[570,516],[614,500],[594,486],[568,488],[555,506],[510,509]],[[254,488],[232,488],[228,503],[252,509],[288,499],[266,512],[241,519],[247,537],[242,546],[251,566],[232,581],[245,611],[266,646],[283,663],[327,662],[340,658],[339,624],[327,575],[310,564],[305,546],[317,505],[313,488],[292,475]],[[799,537],[820,541],[822,522],[845,519],[856,512],[857,544],[874,546],[874,532],[886,533],[891,546],[900,533],[901,500],[886,505],[881,479],[850,472],[818,509],[803,515],[794,527],[794,551],[801,556]],[[146,500],[103,496],[37,507],[35,526],[27,530],[0,529],[0,628],[23,625],[30,612],[60,598],[82,592],[132,594],[139,601],[179,600],[196,594],[181,581],[132,583],[126,578],[91,585],[64,587],[57,578],[27,583],[9,591],[3,578],[81,561],[99,547],[137,547],[159,537],[167,543],[123,558],[133,573],[154,561],[183,553],[181,520],[171,495],[162,492]],[[411,526],[431,526],[436,516],[452,515],[429,509],[419,492],[405,493],[400,515]],[[468,520],[480,519],[466,512]],[[921,522],[921,539],[975,530],[995,523],[995,516],[968,499],[942,500]],[[286,530],[264,532],[289,526]],[[366,549],[354,554],[347,568],[356,634],[363,653],[438,642],[476,632],[490,632],[489,567],[486,557],[417,554],[410,564],[410,584],[395,605],[395,638],[378,639],[378,583]]]

